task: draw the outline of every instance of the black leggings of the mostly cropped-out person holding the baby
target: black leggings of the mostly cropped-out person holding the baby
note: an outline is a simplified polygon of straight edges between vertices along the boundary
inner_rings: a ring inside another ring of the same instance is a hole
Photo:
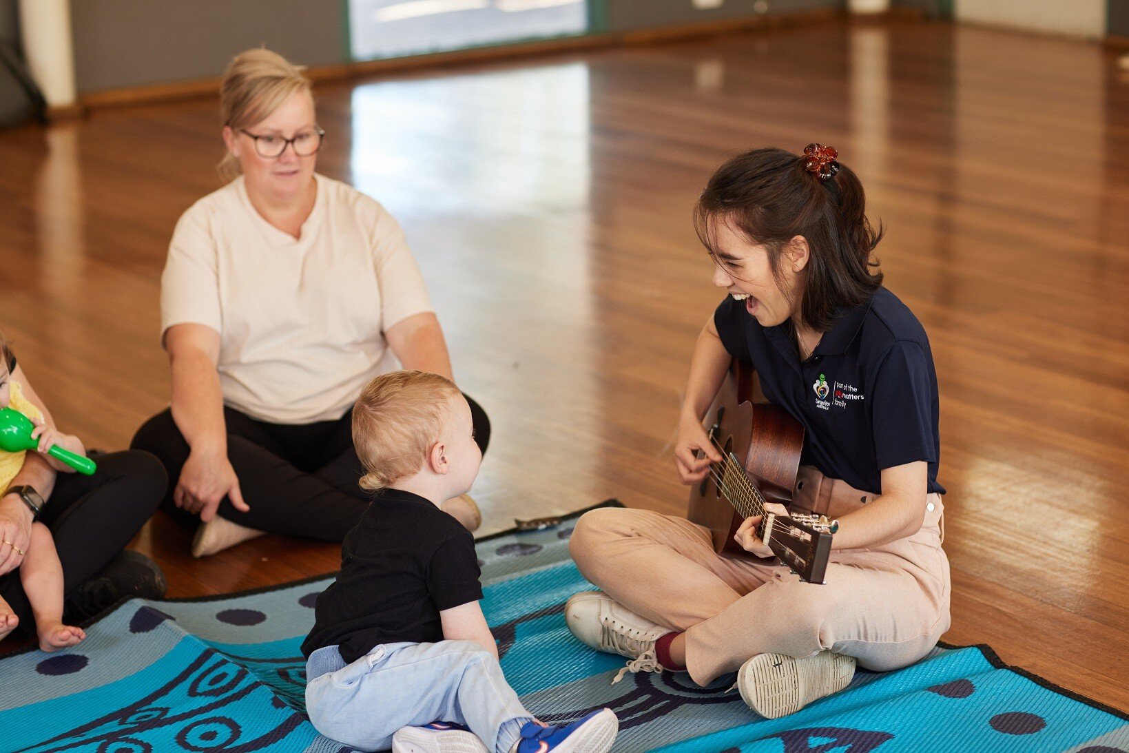
[[[63,566],[64,598],[125,549],[157,511],[168,478],[156,457],[134,450],[95,455],[94,475],[60,473],[43,505],[40,523],[51,529]],[[21,629],[35,624],[19,581],[19,568],[0,576],[0,596]]]

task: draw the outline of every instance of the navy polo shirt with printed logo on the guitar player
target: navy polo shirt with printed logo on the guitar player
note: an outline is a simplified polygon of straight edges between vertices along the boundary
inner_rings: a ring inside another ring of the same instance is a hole
[[[761,326],[732,296],[714,323],[729,353],[752,364],[769,402],[806,429],[800,462],[877,494],[882,470],[916,461],[937,483],[937,373],[925,327],[898,296],[879,288],[842,313],[800,362],[787,324]]]

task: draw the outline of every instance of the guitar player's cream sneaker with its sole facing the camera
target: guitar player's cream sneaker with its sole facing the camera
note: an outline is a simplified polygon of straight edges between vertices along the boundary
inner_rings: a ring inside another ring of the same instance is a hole
[[[820,651],[797,659],[785,654],[758,654],[741,666],[737,690],[753,711],[765,719],[779,719],[838,693],[854,676],[854,656]]]

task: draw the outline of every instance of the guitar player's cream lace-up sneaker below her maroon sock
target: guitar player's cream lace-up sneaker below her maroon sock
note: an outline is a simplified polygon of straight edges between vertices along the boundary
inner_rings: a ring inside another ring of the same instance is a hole
[[[613,685],[628,672],[663,672],[655,641],[671,632],[669,628],[639,616],[602,590],[572,594],[564,604],[564,623],[585,646],[631,659],[615,675]]]

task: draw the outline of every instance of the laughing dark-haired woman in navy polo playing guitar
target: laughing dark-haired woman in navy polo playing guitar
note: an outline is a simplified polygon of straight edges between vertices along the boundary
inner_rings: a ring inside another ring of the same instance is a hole
[[[685,669],[701,685],[739,671],[745,702],[771,718],[842,690],[856,664],[917,662],[949,625],[929,341],[882,287],[870,259],[882,233],[855,173],[829,147],[804,151],[739,155],[699,199],[712,282],[728,296],[698,338],[674,454],[686,484],[728,462],[702,419],[730,364],[752,365],[806,432],[790,511],[839,522],[824,585],[777,560],[718,554],[685,518],[609,508],[571,539],[602,590],[566,607],[576,637],[632,659],[628,669]],[[736,540],[763,558],[760,524],[746,519]]]

